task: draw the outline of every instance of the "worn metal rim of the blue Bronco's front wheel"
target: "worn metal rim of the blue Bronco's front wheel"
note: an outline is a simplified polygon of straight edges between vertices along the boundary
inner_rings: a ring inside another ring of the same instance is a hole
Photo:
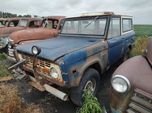
[[[90,93],[94,93],[96,89],[96,81],[95,79],[87,81],[83,91],[90,91]]]

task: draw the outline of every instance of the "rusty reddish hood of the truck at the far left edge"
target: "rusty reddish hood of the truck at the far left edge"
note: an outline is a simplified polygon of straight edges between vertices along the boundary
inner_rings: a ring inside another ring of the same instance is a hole
[[[3,27],[0,28],[0,36],[8,36],[14,31],[23,30],[25,27]]]

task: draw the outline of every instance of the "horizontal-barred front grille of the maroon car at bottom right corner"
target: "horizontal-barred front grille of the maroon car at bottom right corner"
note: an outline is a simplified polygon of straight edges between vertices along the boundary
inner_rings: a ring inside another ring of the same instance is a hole
[[[152,113],[152,95],[135,89],[127,113]]]

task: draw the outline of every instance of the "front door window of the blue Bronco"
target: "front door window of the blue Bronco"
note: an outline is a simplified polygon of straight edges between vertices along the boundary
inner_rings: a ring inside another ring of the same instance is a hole
[[[108,37],[120,36],[120,18],[111,18]]]

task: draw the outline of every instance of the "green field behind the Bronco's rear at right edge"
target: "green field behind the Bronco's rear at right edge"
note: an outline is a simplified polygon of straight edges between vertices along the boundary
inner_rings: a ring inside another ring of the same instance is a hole
[[[134,25],[136,36],[152,36],[152,25]]]

